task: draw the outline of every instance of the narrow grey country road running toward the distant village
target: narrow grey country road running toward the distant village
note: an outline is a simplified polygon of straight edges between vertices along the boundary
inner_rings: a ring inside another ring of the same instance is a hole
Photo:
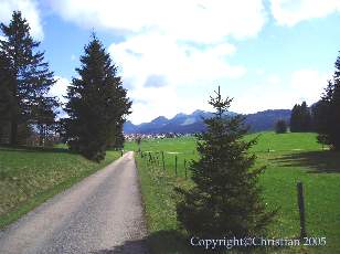
[[[55,195],[0,232],[0,253],[147,253],[134,154]]]

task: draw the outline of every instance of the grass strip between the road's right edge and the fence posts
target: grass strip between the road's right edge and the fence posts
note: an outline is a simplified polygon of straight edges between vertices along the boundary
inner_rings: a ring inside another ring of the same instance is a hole
[[[147,243],[150,253],[194,253],[177,223],[173,188],[185,182],[148,163],[141,157],[137,157],[136,161],[147,216]]]

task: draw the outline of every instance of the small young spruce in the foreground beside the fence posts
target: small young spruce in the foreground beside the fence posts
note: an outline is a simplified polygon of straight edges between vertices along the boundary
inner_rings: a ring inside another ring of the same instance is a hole
[[[178,220],[190,234],[205,237],[255,235],[263,232],[275,212],[268,212],[257,179],[264,168],[254,169],[255,156],[247,150],[256,140],[247,133],[242,116],[223,117],[232,99],[219,91],[211,97],[216,113],[205,119],[206,131],[198,135],[200,159],[192,161],[194,187],[178,189]]]

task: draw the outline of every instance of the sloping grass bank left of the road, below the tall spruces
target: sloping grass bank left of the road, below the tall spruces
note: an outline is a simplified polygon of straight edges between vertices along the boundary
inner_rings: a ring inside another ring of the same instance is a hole
[[[96,163],[64,148],[0,147],[0,229],[119,156]]]

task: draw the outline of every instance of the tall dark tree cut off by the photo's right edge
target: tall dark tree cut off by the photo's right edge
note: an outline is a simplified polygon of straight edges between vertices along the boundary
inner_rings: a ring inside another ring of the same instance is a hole
[[[318,140],[340,150],[340,55],[334,63],[334,74],[317,104]]]

